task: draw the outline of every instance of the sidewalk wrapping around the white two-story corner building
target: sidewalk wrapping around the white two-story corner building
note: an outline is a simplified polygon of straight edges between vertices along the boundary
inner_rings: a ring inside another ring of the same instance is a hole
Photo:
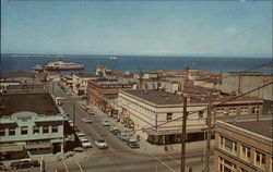
[[[84,101],[78,101],[80,105],[86,105]],[[108,120],[111,124],[111,126],[117,126],[122,132],[132,132],[132,128],[124,127],[124,125],[121,122],[117,122],[117,119],[112,119],[109,116],[109,114],[104,113],[102,110],[99,110],[95,106],[87,106],[88,108],[93,109],[95,111],[95,115],[100,120]],[[136,139],[136,135],[133,134],[132,138]],[[186,151],[202,151],[205,147],[206,140],[200,140],[200,142],[191,142],[186,144]],[[140,149],[134,149],[139,152],[149,152],[149,153],[168,153],[168,152],[180,152],[181,151],[181,144],[171,144],[168,145],[168,150],[165,150],[164,145],[152,145],[144,138],[140,138],[139,142]],[[211,142],[211,147],[214,146],[214,140]]]

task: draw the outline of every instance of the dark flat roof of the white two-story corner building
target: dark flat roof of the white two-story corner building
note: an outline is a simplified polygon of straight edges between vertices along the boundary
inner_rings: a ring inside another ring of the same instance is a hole
[[[154,89],[123,89],[122,91],[156,105],[182,103],[182,99],[180,99],[179,96],[165,91],[159,91]]]

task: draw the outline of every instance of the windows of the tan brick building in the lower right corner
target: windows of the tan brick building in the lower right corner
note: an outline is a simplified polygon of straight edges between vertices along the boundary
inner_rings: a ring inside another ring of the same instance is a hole
[[[221,148],[225,151],[228,151],[229,153],[233,153],[234,156],[237,156],[237,142],[232,140],[229,138],[221,136]],[[251,158],[251,150],[250,147],[244,144],[239,144],[240,148],[240,155],[239,158],[242,160],[250,162]],[[265,168],[265,153],[254,150],[254,165],[264,169]]]

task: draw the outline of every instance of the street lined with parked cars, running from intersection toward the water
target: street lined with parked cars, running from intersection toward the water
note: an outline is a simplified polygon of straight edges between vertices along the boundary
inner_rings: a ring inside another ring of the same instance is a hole
[[[55,90],[55,94],[62,96],[63,90],[59,88]],[[139,151],[140,149],[132,149],[138,148],[139,144],[136,139],[132,139],[131,135],[128,134],[128,132],[131,132],[129,128],[124,128],[121,123],[116,125],[114,120],[108,120],[108,114],[97,110],[97,108],[86,107],[80,101],[79,97],[74,95],[72,97],[66,95],[66,97],[67,99],[63,100],[62,107],[67,113],[71,114],[69,116],[71,125],[73,124],[73,118],[75,120],[74,128],[79,131],[75,133],[76,137],[81,142],[82,147],[84,147],[84,143],[90,143],[93,148],[82,148],[81,152],[78,152],[85,153],[85,158],[73,159],[73,156],[69,158],[71,160],[58,163],[59,165],[47,164],[46,167],[49,170],[57,169],[58,171],[64,170],[67,172],[178,171],[180,164],[177,163],[176,159],[179,159],[179,152],[170,152],[166,156],[141,152]],[[90,114],[91,111],[94,112],[94,115]],[[84,122],[84,118],[90,118],[92,124]],[[104,123],[106,123],[106,125],[104,125]],[[118,137],[118,135],[120,137]],[[123,138],[124,142],[121,142],[121,138]],[[102,146],[103,143],[107,145],[107,149],[106,146]],[[198,156],[200,158],[200,155]]]

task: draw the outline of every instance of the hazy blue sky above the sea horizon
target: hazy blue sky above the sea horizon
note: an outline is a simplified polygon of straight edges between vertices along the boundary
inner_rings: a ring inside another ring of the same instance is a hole
[[[1,1],[1,53],[272,57],[272,1]]]

